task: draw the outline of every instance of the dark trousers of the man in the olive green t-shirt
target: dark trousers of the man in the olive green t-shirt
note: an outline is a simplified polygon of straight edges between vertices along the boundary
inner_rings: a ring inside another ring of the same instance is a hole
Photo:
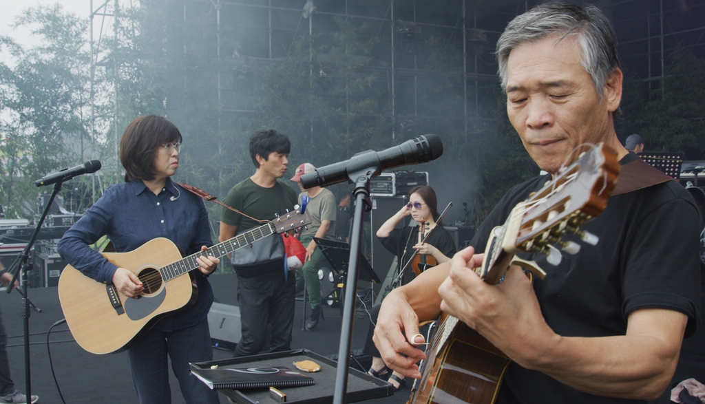
[[[282,271],[283,272],[283,271]],[[235,357],[256,355],[264,348],[269,326],[271,352],[290,350],[296,295],[293,271],[243,278],[238,276],[238,303],[243,336]]]

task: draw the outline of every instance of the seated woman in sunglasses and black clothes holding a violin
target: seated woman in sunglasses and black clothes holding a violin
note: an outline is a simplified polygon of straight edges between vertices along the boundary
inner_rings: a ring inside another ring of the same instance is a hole
[[[408,195],[409,202],[404,204],[399,212],[391,216],[382,226],[379,226],[376,233],[377,238],[387,250],[397,256],[399,271],[404,269],[415,251],[418,251],[419,255],[430,255],[438,264],[449,261],[455,255],[456,247],[453,237],[438,221],[441,215],[438,212],[436,192],[428,185],[419,185],[412,188]],[[397,224],[406,216],[411,216],[418,225],[397,228]],[[423,240],[424,235],[429,231],[431,233],[426,242],[421,243],[420,240]],[[408,267],[401,276],[401,283],[407,283],[414,277],[414,272],[411,267]],[[377,314],[379,314],[379,306],[373,307],[370,311],[372,322],[376,322]],[[367,341],[365,341],[362,350],[365,355],[372,356],[372,367],[367,373],[379,378],[388,377],[389,383],[398,389],[405,385],[404,377],[397,372],[391,372],[389,375],[391,369],[386,367],[379,356],[379,350],[372,342],[373,334],[374,324],[370,324]]]

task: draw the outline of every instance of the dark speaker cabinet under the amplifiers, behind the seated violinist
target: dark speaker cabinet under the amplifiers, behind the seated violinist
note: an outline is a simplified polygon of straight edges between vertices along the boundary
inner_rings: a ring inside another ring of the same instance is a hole
[[[372,212],[370,212],[370,223],[372,224],[372,269],[376,272],[380,279],[384,280],[384,277],[389,271],[389,267],[394,260],[394,255],[389,252],[384,245],[377,239],[376,233],[380,226],[384,224],[387,219],[394,216],[399,209],[404,206],[407,202],[405,196],[401,197],[373,197],[372,198]],[[402,221],[399,221],[397,228],[402,228],[409,224],[410,216],[405,217]]]

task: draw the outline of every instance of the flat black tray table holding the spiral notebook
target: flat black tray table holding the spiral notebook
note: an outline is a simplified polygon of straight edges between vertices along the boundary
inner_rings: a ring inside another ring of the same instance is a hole
[[[212,360],[209,362],[192,363],[196,369],[209,369],[212,366],[218,367],[275,367],[286,366],[296,369],[293,362],[301,360],[312,360],[321,366],[320,372],[306,373],[315,379],[313,386],[279,388],[286,394],[287,403],[298,404],[327,404],[333,403],[333,391],[336,386],[336,367],[338,363],[323,357],[309,350],[289,350],[286,352],[266,353],[262,355],[252,355],[235,357],[224,360]],[[218,390],[230,398],[233,403],[257,404],[274,403],[269,396],[268,388],[248,388],[235,390],[232,388],[221,388]],[[384,380],[372,377],[369,374],[350,368],[348,372],[348,388],[345,394],[345,403],[355,403],[357,401],[369,400],[371,398],[388,397],[394,393],[391,384]]]

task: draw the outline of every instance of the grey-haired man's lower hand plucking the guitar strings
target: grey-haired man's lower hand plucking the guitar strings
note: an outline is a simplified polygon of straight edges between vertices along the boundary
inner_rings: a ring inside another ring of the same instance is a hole
[[[377,324],[374,327],[372,341],[379,349],[384,363],[405,377],[421,377],[419,360],[426,359],[424,337],[419,334],[419,318],[412,307],[398,296],[398,290],[392,290],[382,301]],[[407,341],[412,336],[414,341]]]

